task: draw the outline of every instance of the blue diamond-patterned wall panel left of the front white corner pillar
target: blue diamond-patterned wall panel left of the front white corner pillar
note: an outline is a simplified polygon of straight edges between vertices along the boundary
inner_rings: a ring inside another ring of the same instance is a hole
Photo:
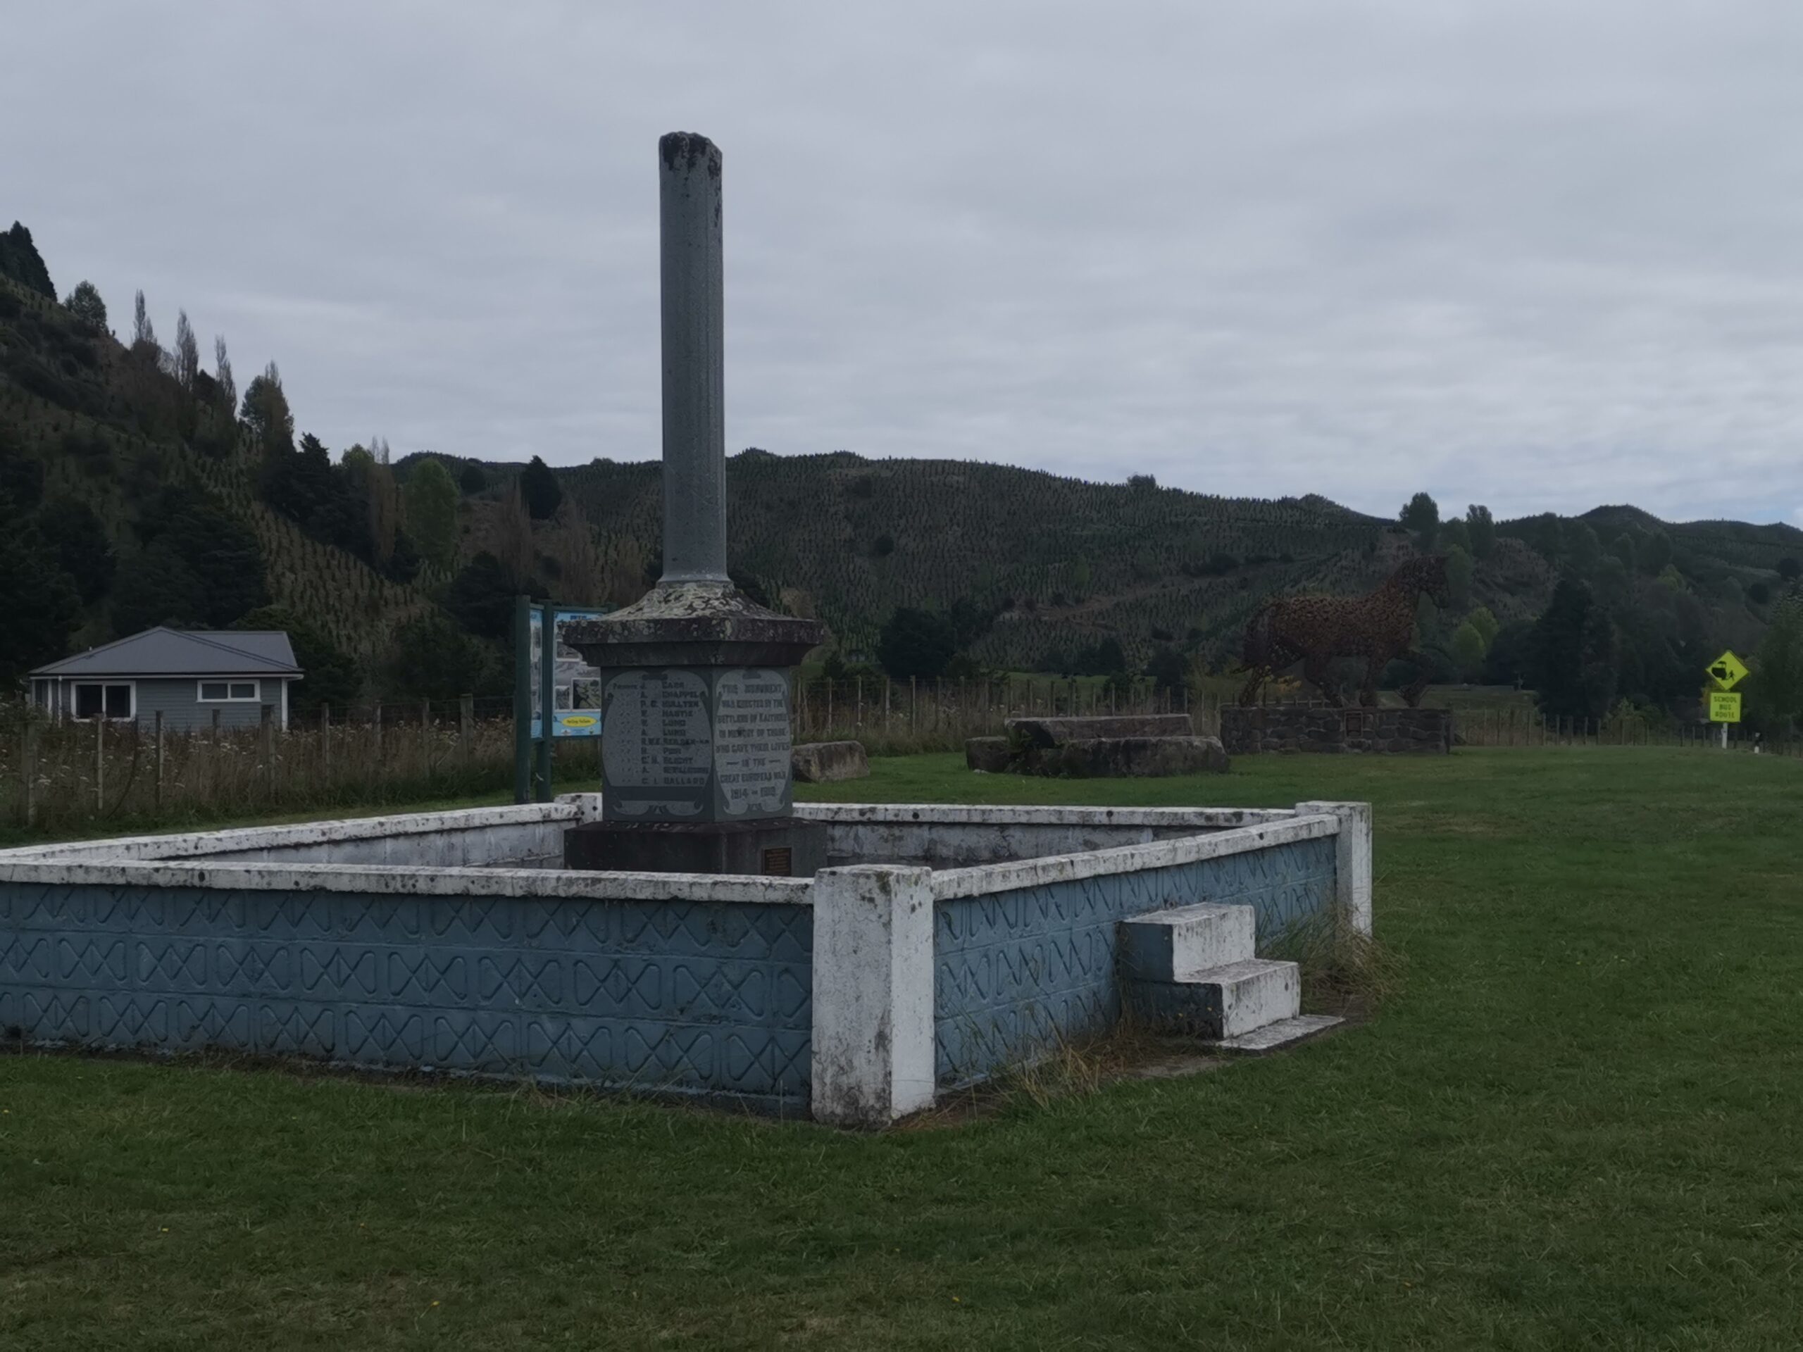
[[[0,1033],[808,1103],[813,912],[0,883]]]

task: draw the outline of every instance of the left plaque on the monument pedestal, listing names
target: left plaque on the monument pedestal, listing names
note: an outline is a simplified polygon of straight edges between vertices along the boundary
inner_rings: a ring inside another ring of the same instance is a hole
[[[602,694],[606,820],[701,822],[712,806],[707,681],[694,671],[626,671]]]

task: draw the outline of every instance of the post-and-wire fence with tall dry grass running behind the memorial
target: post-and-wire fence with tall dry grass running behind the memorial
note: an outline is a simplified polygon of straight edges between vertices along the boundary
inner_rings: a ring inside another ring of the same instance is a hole
[[[999,735],[1010,717],[1188,714],[1217,735],[1219,698],[1149,681],[1002,678],[977,681],[808,680],[795,683],[793,737],[862,741],[873,755],[961,750]],[[1462,746],[1720,748],[1718,725],[1551,717],[1524,708],[1459,710]],[[1803,739],[1731,728],[1740,752],[1803,757]],[[554,741],[554,777],[600,782],[600,737]],[[105,719],[52,723],[0,708],[0,824],[13,835],[59,836],[159,829],[332,808],[462,799],[514,782],[508,696],[321,708],[287,730],[162,728]]]

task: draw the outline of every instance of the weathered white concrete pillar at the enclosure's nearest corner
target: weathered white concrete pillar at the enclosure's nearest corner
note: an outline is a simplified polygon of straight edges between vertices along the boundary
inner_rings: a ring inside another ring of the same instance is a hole
[[[932,871],[813,876],[813,1116],[887,1127],[930,1109]]]

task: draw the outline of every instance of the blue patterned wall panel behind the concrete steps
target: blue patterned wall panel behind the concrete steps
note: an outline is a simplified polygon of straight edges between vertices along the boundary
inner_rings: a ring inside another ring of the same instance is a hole
[[[1334,840],[939,901],[934,1040],[941,1089],[1107,1029],[1120,1017],[1116,923],[1197,901],[1253,907],[1268,943],[1332,907]]]

